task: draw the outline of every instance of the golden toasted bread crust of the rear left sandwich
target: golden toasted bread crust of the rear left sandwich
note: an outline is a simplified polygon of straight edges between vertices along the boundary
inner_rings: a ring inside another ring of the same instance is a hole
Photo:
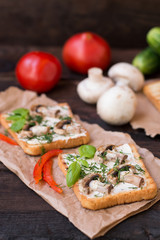
[[[67,103],[60,103],[58,104],[59,106],[67,106],[69,109],[69,116],[73,118],[72,111]],[[77,138],[69,138],[67,140],[57,140],[51,143],[41,143],[41,144],[29,144],[25,141],[22,141],[18,138],[17,134],[13,132],[10,129],[9,123],[11,121],[6,120],[6,114],[1,114],[0,115],[0,122],[2,126],[7,129],[7,131],[11,134],[11,136],[16,140],[16,142],[21,146],[21,148],[24,150],[25,153],[29,155],[40,155],[42,153],[42,149],[45,148],[46,151],[49,151],[51,149],[56,149],[56,148],[72,148],[72,147],[77,147],[82,144],[87,144],[90,140],[89,133],[87,130],[82,127],[82,129],[85,131],[85,136],[79,136]],[[78,121],[76,121],[78,122]]]

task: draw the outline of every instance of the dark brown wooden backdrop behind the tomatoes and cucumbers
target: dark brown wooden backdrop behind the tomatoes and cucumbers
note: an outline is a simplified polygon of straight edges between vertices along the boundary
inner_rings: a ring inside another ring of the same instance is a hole
[[[160,23],[158,0],[1,0],[0,43],[62,46],[73,34],[93,31],[112,47],[145,47]]]

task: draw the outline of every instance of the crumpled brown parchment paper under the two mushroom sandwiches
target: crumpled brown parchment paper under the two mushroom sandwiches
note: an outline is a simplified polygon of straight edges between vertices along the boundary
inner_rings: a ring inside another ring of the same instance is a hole
[[[22,91],[15,87],[10,87],[5,92],[0,93],[1,112],[7,112],[17,107],[28,107],[34,103],[55,104],[54,101],[48,99],[45,95],[37,97],[33,92]],[[90,133],[90,144],[95,146],[133,142],[128,134],[104,131],[96,124],[83,122],[83,125]],[[2,127],[0,132],[4,132]],[[64,152],[66,151],[75,152],[77,149],[65,150]],[[158,188],[160,188],[160,179],[158,178],[160,160],[154,157],[147,149],[138,147],[138,151],[144,158],[145,165],[156,181]],[[37,160],[38,157],[24,154],[19,146],[8,145],[1,141],[0,161],[13,171],[29,188],[66,216],[69,221],[90,238],[104,235],[124,219],[148,209],[160,199],[160,191],[158,190],[158,194],[153,200],[124,204],[97,211],[87,210],[81,207],[72,189],[65,187],[63,194],[58,194],[43,181],[35,184],[33,181],[33,168]],[[57,158],[54,158],[53,161],[53,176],[57,183],[66,186],[65,177],[57,164]]]

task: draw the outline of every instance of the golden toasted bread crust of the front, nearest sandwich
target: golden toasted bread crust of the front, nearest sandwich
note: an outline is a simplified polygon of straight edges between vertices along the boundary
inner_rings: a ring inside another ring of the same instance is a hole
[[[149,172],[147,171],[143,161],[140,159],[140,155],[135,147],[134,144],[129,144],[132,152],[136,159],[138,159],[138,163],[141,163],[142,168],[145,170],[145,179],[146,179],[146,186],[143,189],[138,190],[127,190],[126,192],[120,192],[115,194],[108,194],[104,197],[95,197],[95,198],[88,198],[86,195],[80,193],[79,190],[79,181],[76,182],[73,186],[73,191],[77,196],[78,200],[81,202],[81,205],[84,208],[88,208],[91,210],[98,210],[102,208],[112,207],[119,204],[125,203],[132,203],[141,200],[148,200],[152,199],[157,194],[157,186],[150,176]],[[62,170],[63,174],[67,174],[67,165],[63,160],[63,155],[60,154],[58,157],[58,165]]]

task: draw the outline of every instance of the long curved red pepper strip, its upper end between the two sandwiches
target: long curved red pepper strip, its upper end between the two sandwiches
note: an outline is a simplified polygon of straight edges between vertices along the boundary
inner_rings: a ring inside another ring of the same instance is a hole
[[[53,149],[45,153],[43,156],[41,156],[41,158],[36,163],[33,171],[35,183],[38,183],[42,179],[42,169],[47,160],[50,159],[51,157],[57,156],[61,152],[62,150],[60,149]]]

